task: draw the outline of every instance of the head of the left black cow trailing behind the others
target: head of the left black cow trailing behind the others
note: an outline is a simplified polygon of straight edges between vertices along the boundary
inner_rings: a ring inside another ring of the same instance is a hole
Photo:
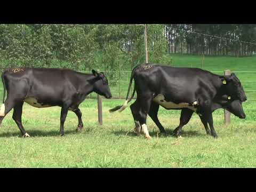
[[[93,91],[110,99],[112,97],[107,77],[101,72],[98,73],[95,70],[92,70],[92,74],[95,76],[95,81],[93,83]]]

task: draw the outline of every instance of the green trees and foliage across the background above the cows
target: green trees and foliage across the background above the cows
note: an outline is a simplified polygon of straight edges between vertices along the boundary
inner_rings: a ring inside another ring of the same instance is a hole
[[[191,33],[211,34],[253,43],[256,37],[254,24],[147,26],[149,62],[172,65],[167,55],[169,53],[234,56],[255,54],[254,44]],[[116,71],[131,70],[143,62],[143,26],[0,25],[2,68],[26,66]],[[110,76],[114,80],[117,78],[114,74]]]

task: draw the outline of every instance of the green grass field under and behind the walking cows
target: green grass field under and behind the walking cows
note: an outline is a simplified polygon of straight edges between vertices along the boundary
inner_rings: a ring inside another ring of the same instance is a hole
[[[185,56],[173,56],[174,66],[175,63],[181,66],[183,60],[191,63],[200,61],[200,57],[190,56],[189,60]],[[256,57],[209,57],[206,60],[209,60],[209,70],[256,71]],[[217,66],[219,63],[226,66]],[[256,81],[255,73],[237,73],[237,76],[241,81]],[[248,87],[244,84],[245,89],[256,90],[256,83],[248,84]],[[122,89],[126,94],[127,89]],[[247,97],[256,99],[256,94],[250,92]],[[153,137],[151,140],[137,137],[133,132],[134,122],[129,108],[122,113],[108,112],[108,109],[121,105],[123,101],[103,99],[103,125],[99,126],[97,100],[85,100],[80,107],[83,131],[76,133],[77,117],[69,111],[64,137],[59,136],[59,107],[37,109],[25,103],[22,122],[31,138],[20,137],[11,111],[0,127],[0,167],[256,166],[256,101],[249,100],[243,104],[246,119],[231,115],[231,124],[228,126],[223,124],[223,109],[215,111],[213,120],[218,139],[206,135],[195,114],[183,127],[182,138],[172,137],[171,132],[179,124],[180,111],[164,110],[161,107],[158,116],[167,137],[157,134],[158,128],[148,117],[149,134]]]

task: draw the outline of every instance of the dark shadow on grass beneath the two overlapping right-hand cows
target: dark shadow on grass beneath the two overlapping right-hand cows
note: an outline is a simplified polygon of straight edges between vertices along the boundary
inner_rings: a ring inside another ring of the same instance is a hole
[[[151,136],[151,137],[174,137],[175,138],[175,136],[173,135],[173,130],[170,130],[170,129],[166,129],[165,130],[165,132],[166,132],[166,135],[165,134],[163,134],[163,133],[160,133],[160,132],[158,132],[157,133],[157,131],[149,131],[149,135]],[[114,134],[115,135],[125,135],[126,137],[137,137],[137,133],[135,133],[133,130],[130,130],[130,131],[126,131],[126,130],[118,130],[118,131],[114,131]],[[157,136],[157,134],[158,134],[158,136]],[[206,133],[205,134],[202,134],[202,133],[199,133],[198,131],[181,131],[181,136],[182,137],[198,137],[198,136],[204,136],[204,135],[206,135]]]

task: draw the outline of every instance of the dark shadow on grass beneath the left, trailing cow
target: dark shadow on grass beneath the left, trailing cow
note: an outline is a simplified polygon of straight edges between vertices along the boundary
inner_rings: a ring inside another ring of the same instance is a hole
[[[60,132],[59,131],[41,131],[41,130],[30,130],[27,132],[30,137],[60,137]],[[76,130],[64,130],[64,137],[67,134],[79,134],[79,132],[76,132]],[[2,137],[22,137],[21,132],[20,131],[16,131],[16,132],[5,132],[5,133],[1,133],[0,134],[0,138]]]

